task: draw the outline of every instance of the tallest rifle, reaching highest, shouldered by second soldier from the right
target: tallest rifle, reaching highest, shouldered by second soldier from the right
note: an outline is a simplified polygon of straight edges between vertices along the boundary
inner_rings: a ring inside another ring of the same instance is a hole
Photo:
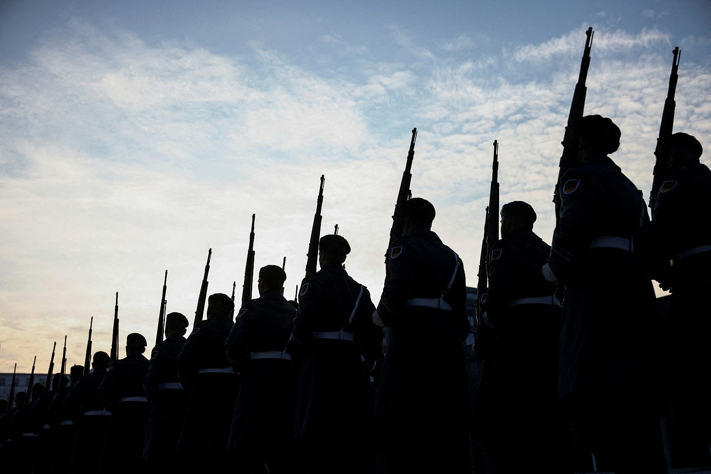
[[[587,70],[590,66],[590,47],[592,46],[592,26],[587,28],[585,32],[587,40],[585,41],[585,49],[582,54],[582,61],[580,63],[580,73],[578,75],[578,82],[575,85],[575,92],[573,92],[573,99],[570,104],[570,112],[568,113],[568,123],[565,126],[565,135],[563,136],[563,141],[560,143],[563,146],[563,153],[560,156],[560,163],[558,166],[558,181],[555,185],[555,191],[553,192],[553,203],[555,203],[555,223],[558,224],[560,220],[560,186],[563,175],[568,168],[572,167],[577,161],[577,151],[580,142],[580,130],[579,124],[580,119],[582,119],[583,110],[585,108],[585,93],[587,92],[587,87],[585,87],[585,80],[587,79]],[[497,210],[498,212],[498,210]]]

